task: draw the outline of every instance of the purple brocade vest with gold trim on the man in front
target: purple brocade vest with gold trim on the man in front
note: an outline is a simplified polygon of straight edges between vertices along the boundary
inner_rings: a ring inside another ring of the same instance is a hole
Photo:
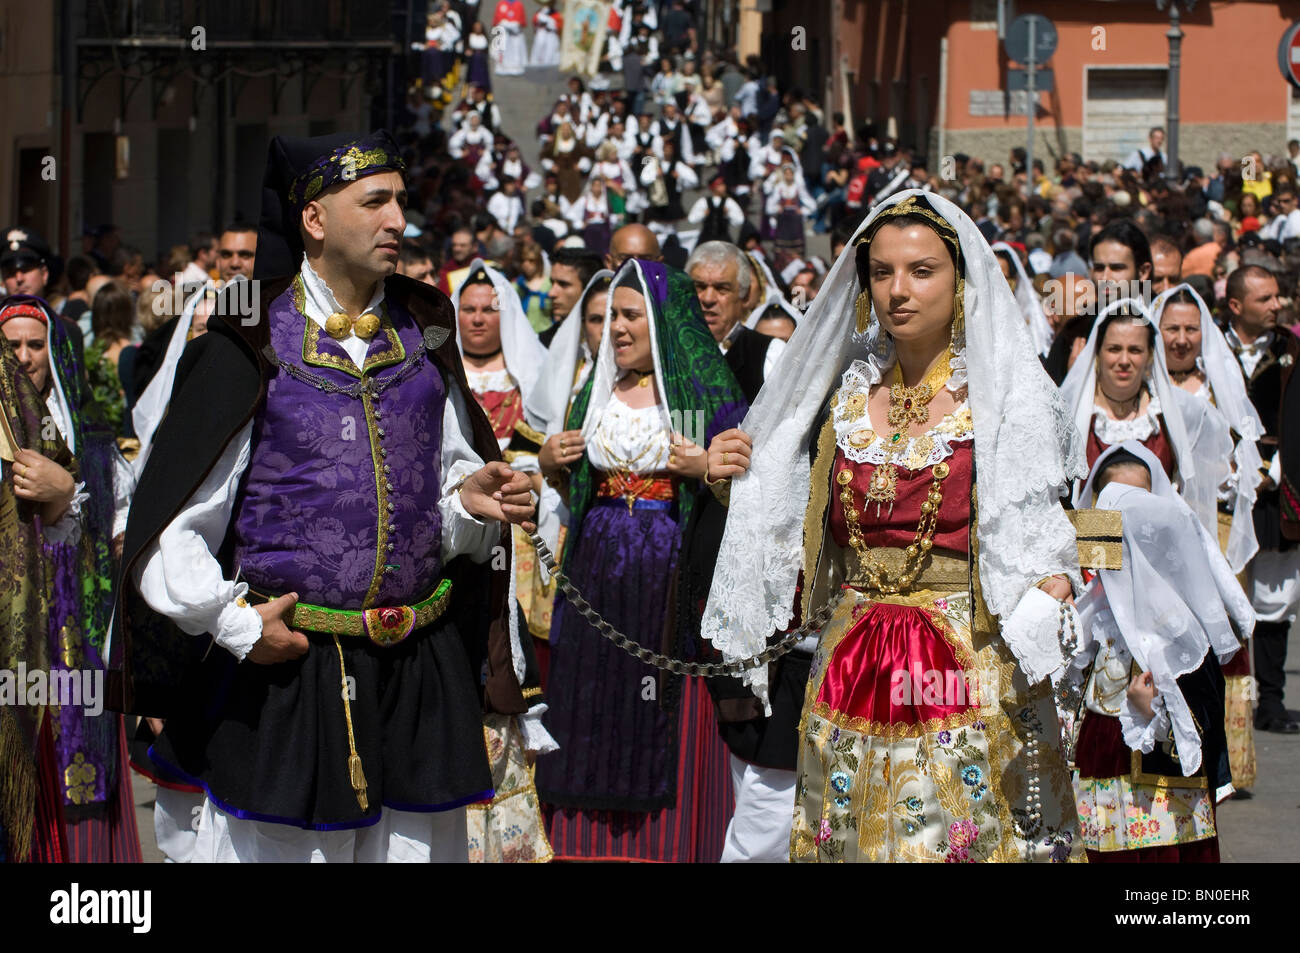
[[[287,364],[338,386],[382,382],[421,348],[386,306],[364,371],[303,313],[300,280],[269,308]],[[328,608],[410,606],[442,576],[442,413],[447,390],[428,359],[381,394],[330,394],[283,371],[270,378],[235,506],[235,564],[257,593],[296,592]]]

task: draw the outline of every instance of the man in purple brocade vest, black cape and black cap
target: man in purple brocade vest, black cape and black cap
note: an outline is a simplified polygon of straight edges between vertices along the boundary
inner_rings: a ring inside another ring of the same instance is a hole
[[[384,131],[272,140],[254,309],[186,348],[136,488],[110,696],[205,790],[196,861],[465,861],[484,707],[526,716],[482,563],[532,493],[394,274],[403,170]]]

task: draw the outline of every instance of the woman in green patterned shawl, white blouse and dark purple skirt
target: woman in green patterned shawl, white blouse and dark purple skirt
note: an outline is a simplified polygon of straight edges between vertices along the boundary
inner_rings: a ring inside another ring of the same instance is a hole
[[[642,646],[662,646],[681,528],[705,475],[703,442],[745,410],[690,278],[627,261],[595,369],[568,415],[584,451],[568,481],[564,571]],[[547,698],[560,750],[538,764],[537,785],[556,857],[719,859],[732,790],[703,679],[656,672],[564,602],[551,628]]]

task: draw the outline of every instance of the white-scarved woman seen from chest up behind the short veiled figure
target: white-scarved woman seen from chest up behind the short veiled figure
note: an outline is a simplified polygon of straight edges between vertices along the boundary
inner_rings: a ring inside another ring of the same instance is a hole
[[[1143,302],[1123,298],[1102,308],[1061,395],[1087,441],[1089,467],[1106,447],[1139,441],[1201,524],[1218,532],[1218,490],[1228,476],[1232,438],[1221,415],[1174,386]]]

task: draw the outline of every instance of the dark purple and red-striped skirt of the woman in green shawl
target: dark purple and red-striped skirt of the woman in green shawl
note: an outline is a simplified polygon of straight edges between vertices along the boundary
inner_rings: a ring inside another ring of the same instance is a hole
[[[681,542],[675,507],[599,501],[569,579],[610,624],[663,645]],[[727,748],[702,679],[662,679],[556,605],[546,685],[560,750],[537,762],[558,858],[716,862],[733,807]],[[677,699],[664,706],[663,693]]]

